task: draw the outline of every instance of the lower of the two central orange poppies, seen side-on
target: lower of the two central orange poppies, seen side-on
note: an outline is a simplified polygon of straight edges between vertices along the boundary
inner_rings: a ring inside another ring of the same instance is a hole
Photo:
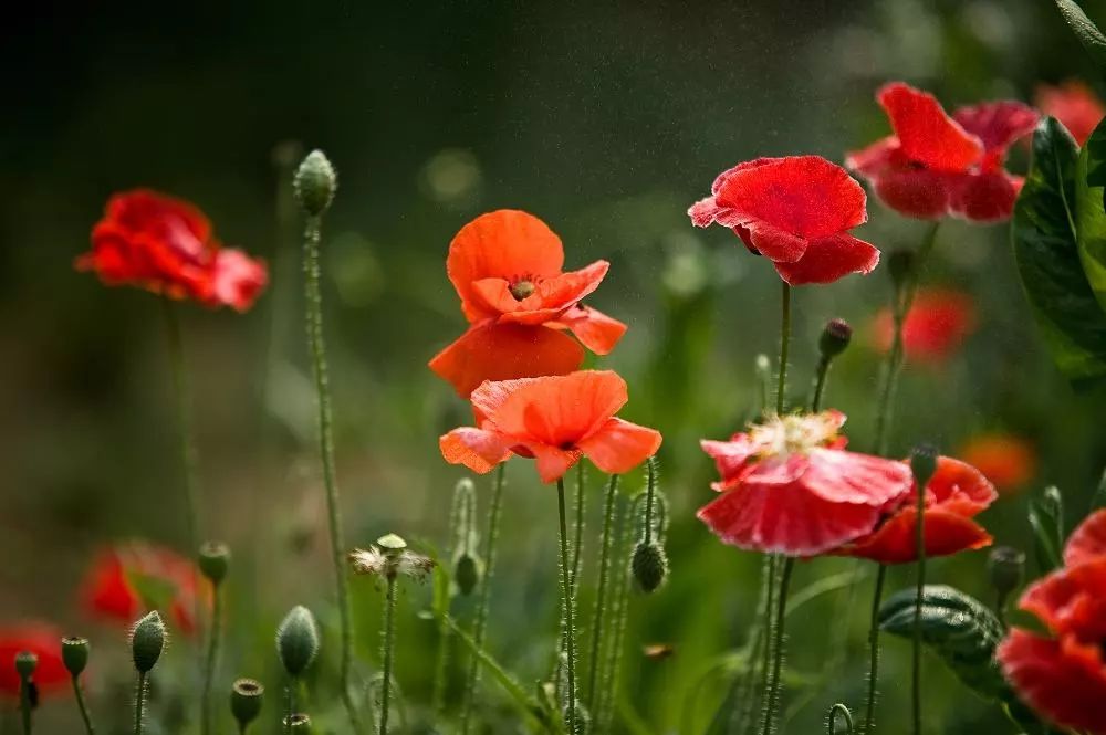
[[[660,447],[658,431],[615,418],[628,395],[626,381],[611,370],[486,381],[471,400],[479,428],[453,429],[439,443],[447,462],[480,474],[512,453],[534,458],[546,483],[581,456],[622,474]]]

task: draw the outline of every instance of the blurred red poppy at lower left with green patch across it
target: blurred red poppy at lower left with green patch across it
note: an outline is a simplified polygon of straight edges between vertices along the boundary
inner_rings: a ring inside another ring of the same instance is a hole
[[[176,552],[146,542],[104,549],[85,578],[83,598],[95,616],[131,624],[153,609],[168,612],[185,634],[196,630],[196,596],[205,605],[196,565]]]

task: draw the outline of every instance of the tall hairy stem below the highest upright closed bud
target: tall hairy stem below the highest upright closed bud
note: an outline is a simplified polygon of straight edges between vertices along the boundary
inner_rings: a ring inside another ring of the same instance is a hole
[[[345,542],[342,538],[342,515],[338,486],[334,471],[334,414],[331,408],[330,375],[326,345],[323,340],[323,296],[320,286],[319,242],[322,237],[319,217],[309,217],[303,238],[303,272],[307,309],[307,343],[311,349],[312,375],[319,409],[319,454],[326,490],[326,515],[330,524],[331,561],[337,592],[338,619],[342,629],[341,687],[349,722],[355,733],[362,732],[357,707],[349,691],[353,672],[353,613],[349,608],[349,582],[345,576]]]

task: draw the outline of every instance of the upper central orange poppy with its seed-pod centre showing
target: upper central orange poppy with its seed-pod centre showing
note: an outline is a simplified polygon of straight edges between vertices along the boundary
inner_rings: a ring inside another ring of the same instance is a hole
[[[561,239],[540,219],[517,210],[481,214],[449,244],[446,271],[472,325],[430,360],[430,369],[468,396],[484,380],[572,372],[584,350],[606,355],[626,325],[581,301],[606,275],[596,261],[562,271]]]

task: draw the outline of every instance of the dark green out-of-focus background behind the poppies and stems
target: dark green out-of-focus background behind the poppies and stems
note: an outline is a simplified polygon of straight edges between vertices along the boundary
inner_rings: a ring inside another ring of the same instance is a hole
[[[1106,2],[1083,4],[1106,19]],[[126,671],[125,639],[76,602],[88,561],[103,545],[135,537],[186,550],[159,304],[72,266],[113,192],[147,186],[187,198],[222,241],[271,269],[270,290],[246,315],[181,308],[204,524],[237,559],[227,684],[236,675],[279,681],[272,631],[293,605],[334,622],[300,222],[288,199],[300,156],[324,149],[341,180],[324,227],[323,286],[352,545],[386,532],[424,549],[449,542],[448,502],[463,475],[441,461],[437,438],[468,416],[425,365],[465,327],[445,273],[452,234],[481,212],[521,208],[563,238],[566,266],[609,260],[592,303],[629,332],[612,356],[592,360],[629,382],[624,416],[664,432],[671,505],[670,581],[632,598],[619,732],[693,734],[726,694],[760,568],[755,555],[722,546],[695,519],[713,479],[698,439],[724,438],[749,416],[754,358],[776,349],[779,305],[769,265],[728,231],[693,230],[687,207],[738,161],[796,153],[839,161],[886,135],[874,94],[889,80],[930,90],[950,109],[1029,102],[1041,83],[1094,82],[1044,0],[124,0],[21,12],[0,30],[0,622],[45,619],[88,634],[105,726],[108,703],[127,697],[114,681]],[[1025,158],[1014,150],[1012,167],[1024,169]],[[858,234],[885,251],[914,246],[925,232],[874,199],[869,211]],[[925,281],[966,294],[972,328],[941,355],[908,360],[894,447],[905,453],[928,440],[959,453],[980,438],[1013,442],[1027,464],[983,522],[998,543],[1029,550],[1033,493],[1056,484],[1068,522],[1085,513],[1106,462],[1106,398],[1073,392],[1053,368],[1005,224],[950,222],[938,238]],[[856,327],[828,403],[849,416],[858,449],[872,444],[874,319],[889,293],[877,270],[795,298],[796,397],[808,390],[825,321]],[[555,498],[528,463],[512,462],[508,474],[489,649],[529,686],[546,674],[555,642]],[[602,496],[602,479],[591,479],[585,612]],[[481,503],[488,484],[478,480]],[[637,492],[640,477],[623,487]],[[984,560],[940,560],[931,578],[990,600]],[[856,570],[872,571],[804,564],[795,589]],[[896,570],[889,588],[910,579]],[[382,594],[353,581],[367,673],[378,665]],[[436,651],[435,626],[416,615],[429,594],[409,587],[401,600],[397,676],[411,732],[429,701]],[[853,592],[838,585],[794,611],[785,732],[817,731],[834,701],[860,706],[869,600],[870,574]],[[467,619],[471,607],[461,599],[455,609]],[[846,649],[835,668],[824,663],[826,640],[838,636]],[[671,655],[645,655],[656,643]],[[908,649],[886,640],[888,733],[908,697]],[[190,650],[181,638],[169,652],[178,663],[166,665],[184,671]],[[325,678],[336,665],[330,629],[323,652]],[[930,732],[1014,732],[939,662],[926,665]],[[155,728],[173,722],[173,686],[164,683],[155,702]],[[499,723],[490,732],[518,732],[493,684],[481,703]],[[71,710],[46,707],[43,732],[73,732]]]

